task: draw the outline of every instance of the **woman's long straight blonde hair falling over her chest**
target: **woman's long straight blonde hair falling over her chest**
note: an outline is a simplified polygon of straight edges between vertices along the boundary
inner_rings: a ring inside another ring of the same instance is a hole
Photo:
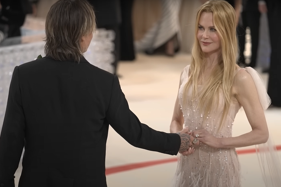
[[[200,75],[204,78],[203,74],[206,65],[204,52],[197,39],[198,25],[202,12],[213,14],[214,26],[221,40],[221,56],[219,58],[219,64],[214,68],[210,78],[206,80],[203,89],[198,94],[198,80]],[[199,103],[197,107],[205,108],[205,120],[207,117],[206,114],[213,110],[215,105],[218,106],[217,98],[222,91],[224,96],[224,111],[219,129],[222,127],[231,102],[232,84],[238,58],[237,54],[238,41],[234,8],[224,0],[206,2],[199,8],[196,16],[195,42],[192,48],[189,80],[184,87],[183,100],[186,104],[188,90],[192,87],[192,101],[194,102],[195,99],[198,99]]]

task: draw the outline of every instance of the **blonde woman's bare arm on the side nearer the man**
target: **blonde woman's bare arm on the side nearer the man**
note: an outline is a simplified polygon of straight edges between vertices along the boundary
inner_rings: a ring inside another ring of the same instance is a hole
[[[181,72],[180,77],[181,77],[183,71]],[[180,85],[181,85],[181,79],[180,79]],[[179,85],[179,89],[180,89],[180,85]],[[178,95],[179,95],[179,92],[178,92]],[[184,117],[183,117],[183,113],[180,109],[180,103],[179,103],[178,95],[177,95],[177,99],[176,99],[176,102],[175,102],[175,108],[174,108],[174,113],[173,113],[173,117],[172,117],[172,122],[171,122],[171,125],[170,125],[170,132],[171,133],[180,132],[183,129],[183,124],[184,124]]]

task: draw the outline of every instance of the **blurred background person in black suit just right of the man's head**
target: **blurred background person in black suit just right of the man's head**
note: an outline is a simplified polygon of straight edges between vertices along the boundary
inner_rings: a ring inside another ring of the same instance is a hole
[[[120,27],[121,27],[121,4],[120,0],[88,0],[91,5],[94,7],[96,14],[97,27],[105,28],[106,30],[113,30],[116,34],[114,40],[114,51],[115,60],[112,63],[115,70],[114,73],[117,73],[117,66],[120,60]]]

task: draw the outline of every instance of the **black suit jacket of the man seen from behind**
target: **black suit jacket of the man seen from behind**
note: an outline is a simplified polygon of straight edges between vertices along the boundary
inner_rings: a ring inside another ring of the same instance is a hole
[[[0,137],[0,186],[106,187],[109,124],[131,145],[176,155],[178,134],[142,124],[118,78],[81,59],[48,57],[16,66]]]

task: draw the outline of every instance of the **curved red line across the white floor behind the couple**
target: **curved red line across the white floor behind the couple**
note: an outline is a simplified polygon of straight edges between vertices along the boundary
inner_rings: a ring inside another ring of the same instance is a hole
[[[281,145],[276,146],[277,150],[281,150]],[[237,154],[250,154],[250,153],[255,153],[256,149],[240,149],[236,150]],[[164,160],[156,160],[156,161],[146,161],[146,162],[140,162],[140,163],[133,163],[133,164],[126,164],[126,165],[121,165],[121,166],[114,166],[114,167],[109,167],[106,168],[106,175],[111,175],[114,173],[119,173],[123,171],[128,171],[128,170],[134,170],[138,168],[143,168],[143,167],[149,167],[153,165],[159,165],[159,164],[166,164],[170,162],[176,162],[177,158],[169,158],[169,159],[164,159]]]

